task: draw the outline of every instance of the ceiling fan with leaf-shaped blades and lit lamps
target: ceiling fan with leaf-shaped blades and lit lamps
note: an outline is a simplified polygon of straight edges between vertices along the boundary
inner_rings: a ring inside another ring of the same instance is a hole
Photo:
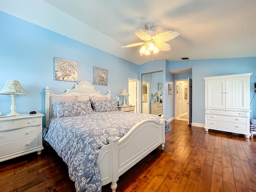
[[[135,31],[135,34],[138,36],[138,38],[144,40],[144,42],[122,46],[122,48],[143,45],[140,49],[140,56],[150,55],[150,52],[153,54],[159,51],[170,51],[171,46],[166,43],[166,41],[169,41],[180,35],[180,33],[175,31],[166,31],[156,34],[154,31],[150,31],[150,28],[153,27],[152,23],[146,23],[145,27],[148,28],[147,32],[144,32],[142,29],[137,29]]]

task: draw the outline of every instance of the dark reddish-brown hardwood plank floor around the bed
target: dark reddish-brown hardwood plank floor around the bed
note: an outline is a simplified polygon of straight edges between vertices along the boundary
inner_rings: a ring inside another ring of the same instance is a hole
[[[117,192],[256,192],[256,138],[170,122],[160,147],[120,176]],[[1,192],[75,192],[50,148],[0,163]],[[111,192],[110,184],[102,192]]]

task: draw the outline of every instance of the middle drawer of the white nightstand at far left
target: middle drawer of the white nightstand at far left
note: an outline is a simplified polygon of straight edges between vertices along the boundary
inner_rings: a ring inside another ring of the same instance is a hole
[[[37,135],[38,126],[18,128],[16,130],[0,131],[0,143]]]

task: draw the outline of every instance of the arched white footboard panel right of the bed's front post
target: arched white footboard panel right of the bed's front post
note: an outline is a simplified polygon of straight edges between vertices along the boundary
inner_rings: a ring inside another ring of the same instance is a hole
[[[118,141],[118,176],[165,142],[162,124],[143,120]]]

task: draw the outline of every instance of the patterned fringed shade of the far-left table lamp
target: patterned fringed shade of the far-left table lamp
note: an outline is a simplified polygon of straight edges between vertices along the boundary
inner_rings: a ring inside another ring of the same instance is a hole
[[[26,92],[22,86],[20,85],[20,82],[15,80],[8,80],[5,84],[4,88],[0,91],[1,95],[26,95],[28,92]]]

